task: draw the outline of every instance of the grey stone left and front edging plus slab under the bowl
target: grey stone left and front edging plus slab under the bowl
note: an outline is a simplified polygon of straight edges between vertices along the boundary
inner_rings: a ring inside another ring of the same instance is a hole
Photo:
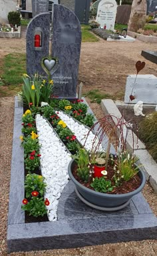
[[[75,195],[71,181],[59,201],[58,221],[25,223],[21,211],[24,196],[23,149],[19,140],[22,114],[23,108],[16,98],[7,230],[9,253],[157,239],[157,218],[141,193],[133,197],[126,209],[102,212],[84,205]]]

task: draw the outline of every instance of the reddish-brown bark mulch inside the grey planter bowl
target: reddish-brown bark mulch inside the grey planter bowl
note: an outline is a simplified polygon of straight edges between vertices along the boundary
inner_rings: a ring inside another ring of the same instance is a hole
[[[75,168],[73,170],[73,175],[75,177],[75,179],[82,184],[84,187],[88,187],[88,189],[92,189],[94,190],[91,186],[90,183],[92,183],[92,177],[90,178],[90,181],[88,181],[87,183],[84,183],[80,177],[78,177],[77,175],[77,165],[75,165]],[[114,182],[112,181],[112,177],[114,176],[114,170],[112,169],[112,167],[108,166],[108,171],[107,171],[107,175],[106,175],[106,180],[110,180],[112,185],[114,186]],[[138,187],[140,187],[141,181],[140,181],[140,177],[138,175],[135,175],[132,179],[130,179],[130,181],[124,181],[122,182],[122,185],[120,185],[119,187],[114,187],[114,189],[112,190],[112,192],[107,192],[106,194],[114,194],[114,195],[118,195],[118,194],[124,194],[124,193],[129,193],[134,191],[135,189],[137,189]]]

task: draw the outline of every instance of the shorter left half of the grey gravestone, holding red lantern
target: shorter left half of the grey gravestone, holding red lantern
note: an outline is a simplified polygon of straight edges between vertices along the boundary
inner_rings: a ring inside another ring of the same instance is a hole
[[[46,73],[41,66],[43,57],[49,56],[50,13],[41,13],[35,16],[27,27],[26,51],[27,51],[27,74]],[[35,36],[40,36],[40,47],[35,47]]]

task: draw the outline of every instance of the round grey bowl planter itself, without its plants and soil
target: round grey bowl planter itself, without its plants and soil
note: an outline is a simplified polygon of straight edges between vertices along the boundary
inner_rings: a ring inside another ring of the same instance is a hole
[[[141,184],[138,189],[125,194],[120,195],[114,195],[114,194],[106,194],[106,193],[100,193],[96,192],[92,189],[88,189],[87,187],[84,187],[82,184],[80,184],[75,177],[73,176],[73,169],[75,167],[75,160],[73,159],[69,163],[69,177],[75,183],[76,186],[76,193],[80,200],[82,200],[84,203],[89,205],[90,207],[94,207],[96,209],[104,210],[104,211],[117,211],[119,209],[122,209],[128,205],[130,202],[130,199],[142,191],[145,183],[146,183],[146,177],[144,175],[144,172],[139,169],[138,175],[141,179]]]

